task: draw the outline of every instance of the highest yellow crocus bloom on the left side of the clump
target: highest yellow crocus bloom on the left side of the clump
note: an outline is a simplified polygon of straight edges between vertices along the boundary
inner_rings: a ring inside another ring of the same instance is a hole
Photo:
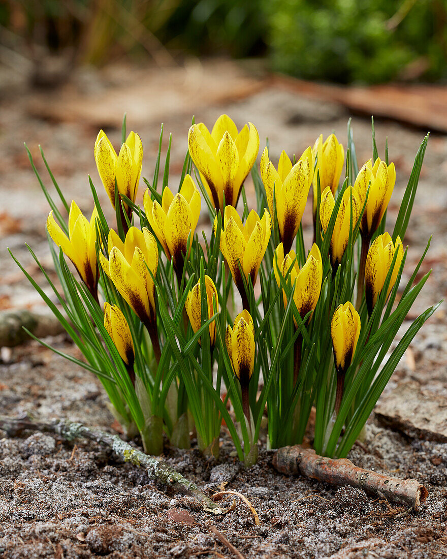
[[[100,130],[94,143],[94,159],[112,206],[115,208],[115,179],[118,194],[135,202],[143,160],[140,136],[130,132],[117,155],[105,132]]]

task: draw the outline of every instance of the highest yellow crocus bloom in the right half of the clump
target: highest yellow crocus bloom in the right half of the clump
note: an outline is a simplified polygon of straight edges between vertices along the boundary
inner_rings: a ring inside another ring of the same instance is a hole
[[[313,156],[317,159],[313,175],[313,214],[315,215],[317,211],[317,172],[320,173],[321,192],[329,186],[332,194],[335,194],[343,170],[345,150],[335,134],[327,136],[324,142],[323,135],[320,134],[313,145]]]

